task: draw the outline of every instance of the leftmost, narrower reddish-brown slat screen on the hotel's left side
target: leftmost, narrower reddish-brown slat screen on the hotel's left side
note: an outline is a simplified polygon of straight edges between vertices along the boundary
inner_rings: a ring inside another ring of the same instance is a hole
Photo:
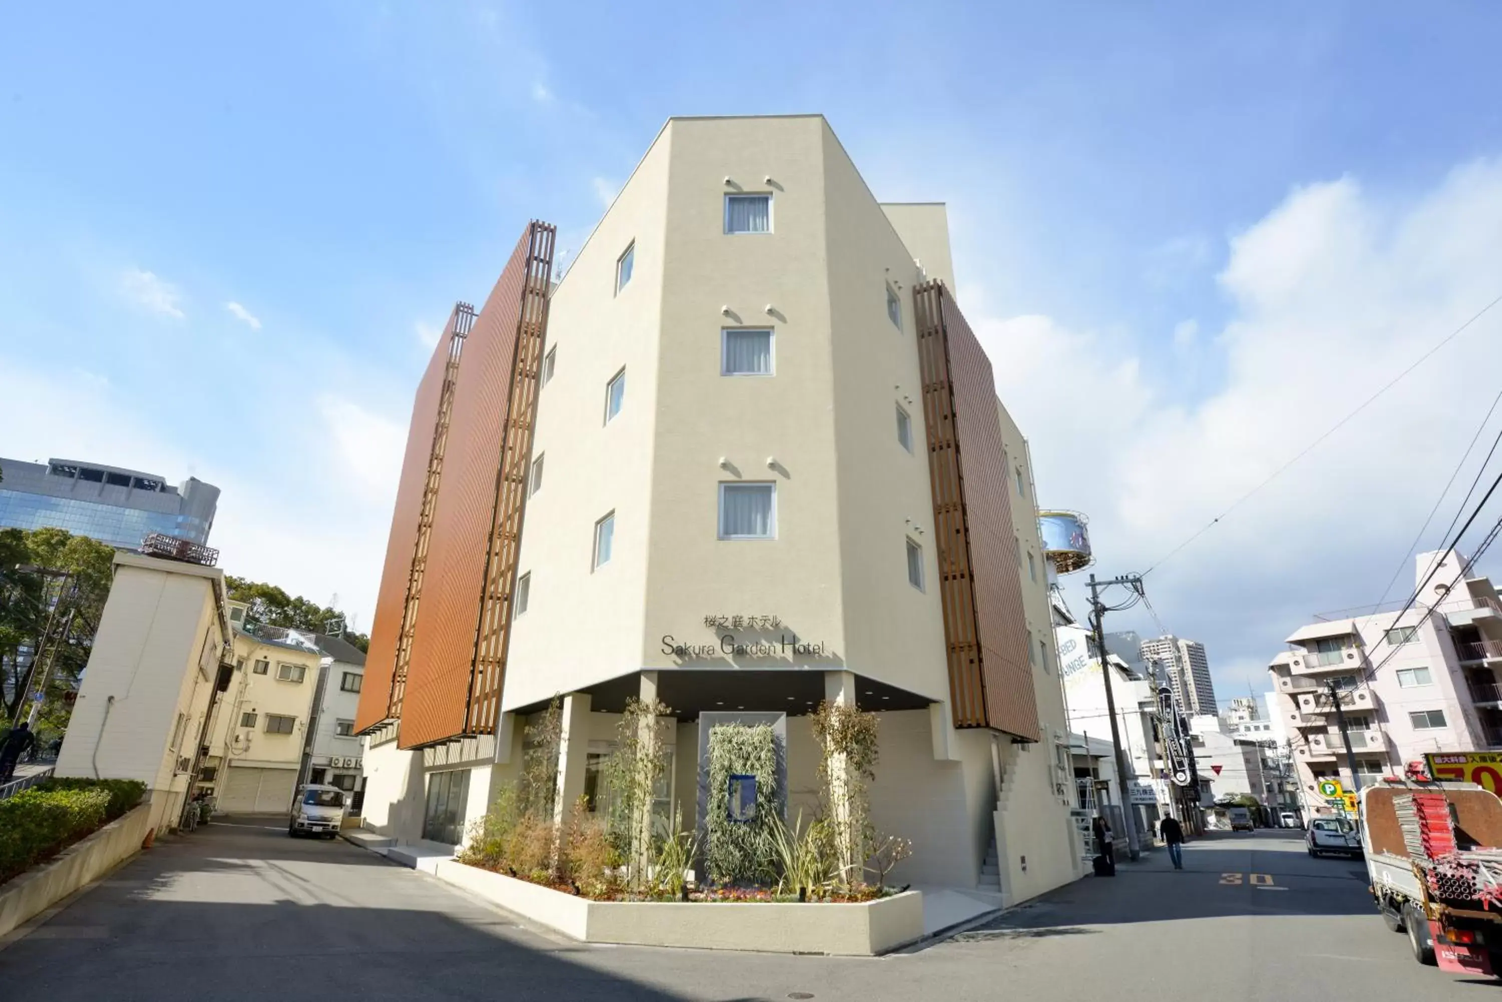
[[[442,440],[446,434],[445,410],[452,401],[464,332],[472,318],[473,306],[455,305],[443,337],[433,349],[428,368],[418,383],[412,422],[407,427],[407,449],[401,461],[401,479],[397,481],[397,506],[386,539],[386,560],[382,565],[380,590],[376,593],[371,646],[365,655],[365,684],[360,687],[360,702],[354,712],[356,732],[371,730],[401,714],[401,697],[394,693],[397,652],[403,646],[403,638],[410,637],[416,616],[416,598],[422,586],[419,580],[413,589],[413,565],[416,553],[425,548],[425,544],[419,542],[424,535],[422,521],[431,511],[437,493],[437,476],[443,466]],[[404,681],[406,664],[403,664]]]

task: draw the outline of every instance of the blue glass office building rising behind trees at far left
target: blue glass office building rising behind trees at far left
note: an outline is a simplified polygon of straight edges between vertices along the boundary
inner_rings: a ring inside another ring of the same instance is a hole
[[[153,532],[207,544],[219,488],[98,463],[0,458],[0,529],[66,529],[135,550]]]

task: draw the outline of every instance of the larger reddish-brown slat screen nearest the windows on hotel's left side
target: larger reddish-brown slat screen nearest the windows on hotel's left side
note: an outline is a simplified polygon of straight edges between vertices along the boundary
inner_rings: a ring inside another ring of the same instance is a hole
[[[445,473],[428,544],[422,607],[412,637],[410,667],[397,742],[416,748],[472,730],[476,691],[499,705],[505,644],[479,664],[482,629],[496,632],[500,616],[488,596],[509,611],[515,541],[521,514],[502,518],[506,476],[532,452],[539,346],[545,337],[545,297],[551,282],[554,228],[532,222],[466,338],[464,364],[454,388]],[[544,308],[538,311],[538,296]],[[515,409],[521,407],[518,413]],[[497,526],[509,542],[497,542]],[[502,559],[509,554],[509,568]],[[505,578],[505,580],[502,580]],[[509,614],[505,616],[509,622]],[[476,675],[482,685],[476,684]],[[476,717],[484,723],[484,715]],[[490,720],[487,730],[494,727]]]

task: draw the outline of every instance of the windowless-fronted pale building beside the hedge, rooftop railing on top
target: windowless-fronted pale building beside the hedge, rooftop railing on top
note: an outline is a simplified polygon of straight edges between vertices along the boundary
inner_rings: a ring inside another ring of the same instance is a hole
[[[140,780],[152,825],[176,828],[230,646],[222,571],[116,553],[57,775]]]

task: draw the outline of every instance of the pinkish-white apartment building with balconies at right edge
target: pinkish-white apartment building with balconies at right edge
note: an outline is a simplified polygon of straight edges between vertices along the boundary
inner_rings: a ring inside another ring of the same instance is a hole
[[[1457,553],[1421,553],[1415,580],[1422,586],[1419,601],[1401,616],[1394,610],[1308,623],[1268,665],[1311,813],[1329,810],[1316,792],[1320,778],[1338,778],[1355,790],[1400,774],[1424,753],[1502,748],[1496,587],[1473,577],[1470,562]],[[1347,765],[1331,685],[1346,715],[1358,777]]]

